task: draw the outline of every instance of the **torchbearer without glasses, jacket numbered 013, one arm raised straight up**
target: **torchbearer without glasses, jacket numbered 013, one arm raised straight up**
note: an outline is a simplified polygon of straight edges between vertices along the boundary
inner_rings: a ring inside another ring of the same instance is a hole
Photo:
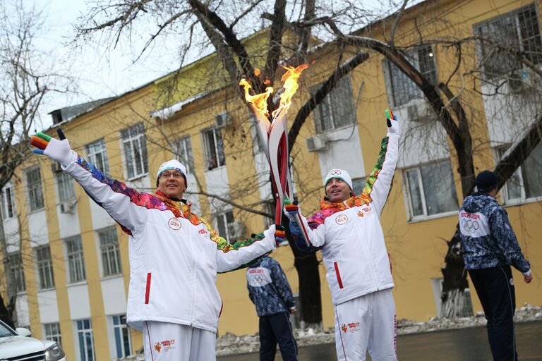
[[[320,212],[308,221],[307,246],[296,224],[299,207],[289,204],[285,213],[300,250],[321,250],[335,305],[335,343],[339,361],[397,360],[397,317],[390,259],[380,226],[380,214],[392,185],[399,148],[399,123],[388,119],[375,169],[361,195],[352,192],[349,173],[332,169],[325,177],[326,196]]]

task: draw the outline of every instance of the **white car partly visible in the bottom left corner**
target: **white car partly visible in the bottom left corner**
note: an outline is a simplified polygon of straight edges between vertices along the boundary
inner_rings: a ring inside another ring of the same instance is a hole
[[[30,337],[23,327],[13,330],[0,321],[0,361],[66,361],[64,350],[54,341]]]

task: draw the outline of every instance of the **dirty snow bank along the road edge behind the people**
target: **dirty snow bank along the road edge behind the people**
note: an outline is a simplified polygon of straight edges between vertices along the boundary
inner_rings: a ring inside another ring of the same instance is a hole
[[[542,321],[542,307],[534,307],[526,303],[516,310],[515,322]],[[448,329],[466,329],[469,327],[486,326],[486,319],[483,312],[478,312],[473,317],[462,317],[459,319],[438,319],[436,317],[428,322],[414,322],[408,319],[397,321],[397,334],[417,334],[421,332],[440,331]],[[335,343],[335,331],[333,329],[296,329],[294,330],[299,347],[308,345],[320,345],[322,343]],[[224,334],[217,339],[217,356],[236,355],[239,353],[255,353],[260,348],[258,333],[246,336]],[[143,361],[143,350],[131,357],[120,360]]]

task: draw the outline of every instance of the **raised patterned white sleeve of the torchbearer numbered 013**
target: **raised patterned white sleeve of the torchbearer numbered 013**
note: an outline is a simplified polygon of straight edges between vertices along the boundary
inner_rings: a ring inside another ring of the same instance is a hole
[[[398,155],[399,135],[389,134],[380,143],[380,154],[378,154],[375,168],[367,177],[365,188],[360,196],[373,202],[378,216],[382,213],[387,196],[390,195]]]

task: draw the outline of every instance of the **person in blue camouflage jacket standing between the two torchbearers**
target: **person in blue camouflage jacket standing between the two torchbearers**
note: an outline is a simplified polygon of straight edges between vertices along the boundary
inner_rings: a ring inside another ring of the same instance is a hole
[[[248,296],[260,317],[260,361],[275,360],[277,343],[282,360],[297,361],[297,344],[291,331],[289,313],[296,302],[279,262],[268,255],[246,270]]]

